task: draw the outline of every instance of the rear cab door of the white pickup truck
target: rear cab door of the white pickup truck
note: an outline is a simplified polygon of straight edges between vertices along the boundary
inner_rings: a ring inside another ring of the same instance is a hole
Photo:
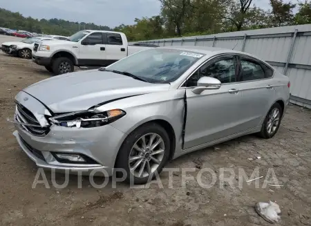
[[[106,34],[106,60],[107,63],[112,64],[119,59],[126,57],[126,44],[122,41],[122,37],[118,33]]]

